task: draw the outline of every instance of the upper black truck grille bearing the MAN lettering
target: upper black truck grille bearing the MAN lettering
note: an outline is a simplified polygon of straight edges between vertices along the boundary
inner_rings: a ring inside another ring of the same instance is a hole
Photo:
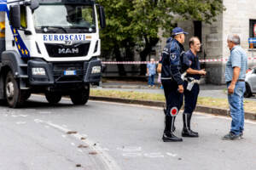
[[[63,45],[56,43],[44,43],[49,57],[78,57],[86,56],[90,48],[90,42]]]

